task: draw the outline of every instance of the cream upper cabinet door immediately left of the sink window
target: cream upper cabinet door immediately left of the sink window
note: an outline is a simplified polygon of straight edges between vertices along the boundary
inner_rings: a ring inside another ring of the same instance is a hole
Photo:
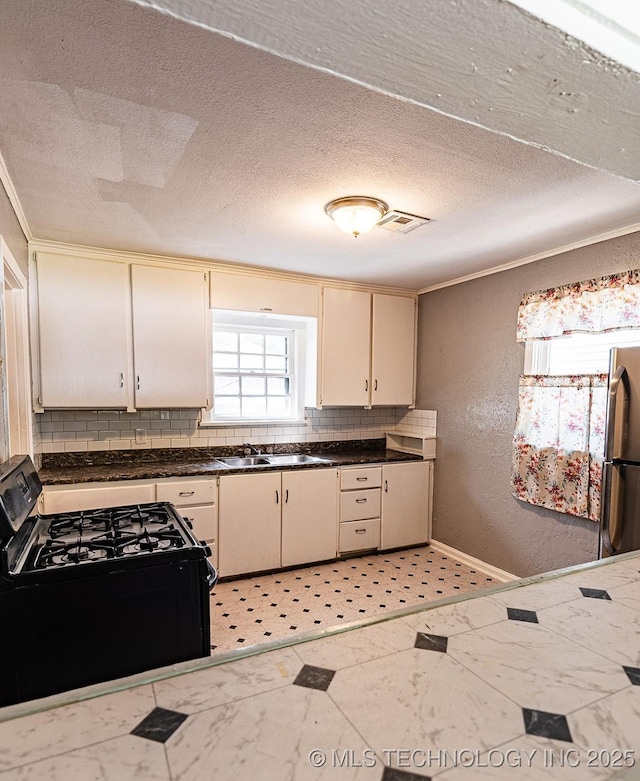
[[[209,406],[206,274],[132,266],[135,406]]]

